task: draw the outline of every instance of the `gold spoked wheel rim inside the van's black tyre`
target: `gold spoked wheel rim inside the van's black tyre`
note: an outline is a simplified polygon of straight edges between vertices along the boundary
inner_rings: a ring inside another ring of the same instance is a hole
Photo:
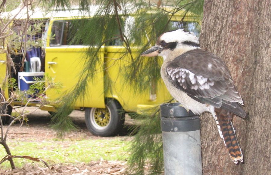
[[[91,108],[90,122],[96,129],[105,129],[111,121],[111,112],[106,108]]]

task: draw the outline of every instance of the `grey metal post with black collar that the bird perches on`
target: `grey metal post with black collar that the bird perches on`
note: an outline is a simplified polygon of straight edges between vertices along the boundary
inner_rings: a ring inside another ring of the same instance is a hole
[[[200,119],[179,103],[161,104],[165,175],[201,175]]]

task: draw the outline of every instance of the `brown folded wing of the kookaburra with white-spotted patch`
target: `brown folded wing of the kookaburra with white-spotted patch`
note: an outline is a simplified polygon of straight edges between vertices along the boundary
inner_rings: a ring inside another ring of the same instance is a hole
[[[170,62],[166,73],[174,86],[195,100],[246,116],[229,70],[216,55],[202,49],[190,50]]]

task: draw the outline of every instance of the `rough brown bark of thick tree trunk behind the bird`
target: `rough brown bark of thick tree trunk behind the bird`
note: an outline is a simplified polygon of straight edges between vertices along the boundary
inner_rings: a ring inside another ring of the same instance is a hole
[[[201,117],[204,174],[271,174],[271,1],[204,2],[201,47],[225,61],[249,113],[233,125],[244,154],[235,165],[215,121]]]

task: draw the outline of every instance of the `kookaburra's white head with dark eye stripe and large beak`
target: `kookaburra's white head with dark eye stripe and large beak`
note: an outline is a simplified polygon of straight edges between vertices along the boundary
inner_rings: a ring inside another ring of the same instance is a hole
[[[192,32],[185,32],[184,29],[177,29],[160,35],[155,46],[143,52],[141,56],[159,55],[163,56],[164,60],[166,60],[168,57],[175,58],[184,52],[196,48],[200,48],[198,37]]]

